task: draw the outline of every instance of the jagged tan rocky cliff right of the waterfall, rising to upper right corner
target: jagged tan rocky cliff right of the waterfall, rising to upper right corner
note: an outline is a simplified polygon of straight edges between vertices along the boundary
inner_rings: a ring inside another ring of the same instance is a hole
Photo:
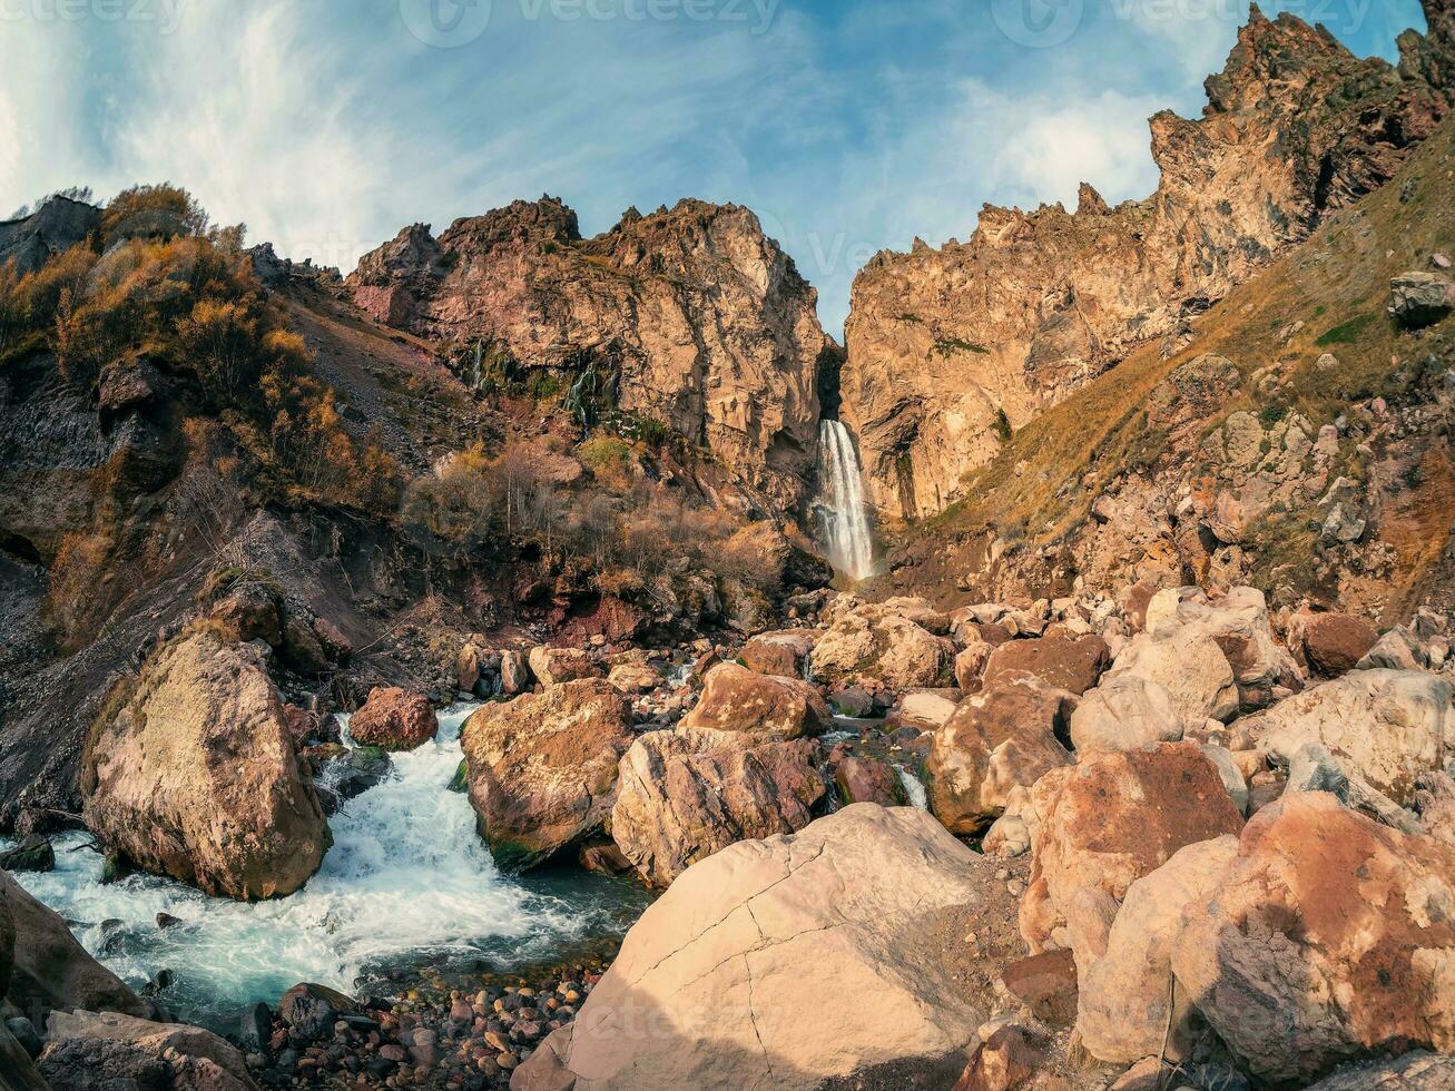
[[[1353,57],[1323,28],[1257,6],[1199,121],[1151,121],[1145,201],[1074,212],[986,205],[968,243],[880,253],[854,284],[842,415],[873,503],[938,512],[1005,436],[1147,342],[1187,323],[1387,182],[1449,106],[1455,4],[1401,63]]]

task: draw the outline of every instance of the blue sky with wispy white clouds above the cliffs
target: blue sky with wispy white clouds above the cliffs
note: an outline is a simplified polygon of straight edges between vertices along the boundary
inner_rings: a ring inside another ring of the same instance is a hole
[[[1394,57],[1417,0],[1266,3]],[[586,234],[681,196],[760,214],[841,335],[854,272],[985,201],[1155,186],[1238,0],[0,0],[0,215],[68,185],[192,189],[348,272],[550,192]]]

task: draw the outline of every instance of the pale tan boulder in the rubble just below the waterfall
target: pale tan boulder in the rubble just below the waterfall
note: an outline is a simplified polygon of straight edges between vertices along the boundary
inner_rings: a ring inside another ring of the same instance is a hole
[[[954,646],[946,637],[885,607],[860,604],[835,614],[809,662],[813,678],[824,682],[877,682],[890,690],[918,690],[946,681],[953,656]]]

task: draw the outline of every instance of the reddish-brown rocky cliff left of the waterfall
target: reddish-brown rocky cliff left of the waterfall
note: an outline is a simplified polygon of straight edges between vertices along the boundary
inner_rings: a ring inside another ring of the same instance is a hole
[[[476,385],[569,385],[579,412],[666,425],[780,511],[803,499],[832,342],[746,208],[629,209],[582,239],[560,201],[517,201],[438,239],[404,228],[348,285],[380,321],[451,345]]]

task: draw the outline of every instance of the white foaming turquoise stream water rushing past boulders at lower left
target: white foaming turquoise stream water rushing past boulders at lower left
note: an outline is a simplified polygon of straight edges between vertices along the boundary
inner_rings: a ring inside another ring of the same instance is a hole
[[[394,774],[333,816],[333,848],[290,898],[243,905],[141,874],[102,886],[102,857],[83,832],[55,839],[55,871],[16,879],[128,983],[170,969],[163,1001],[211,1026],[243,1004],[276,1004],[300,980],[351,991],[390,967],[508,966],[620,932],[646,902],[630,884],[496,870],[467,797],[445,788],[474,707],[441,713],[435,742],[394,755]],[[159,912],[182,924],[157,928]]]

